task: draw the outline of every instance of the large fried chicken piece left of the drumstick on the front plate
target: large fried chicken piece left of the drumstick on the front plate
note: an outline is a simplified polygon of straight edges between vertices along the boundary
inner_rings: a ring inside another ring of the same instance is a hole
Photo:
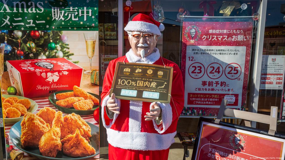
[[[50,125],[39,116],[28,112],[21,122],[21,143],[23,147],[38,147],[38,142]]]

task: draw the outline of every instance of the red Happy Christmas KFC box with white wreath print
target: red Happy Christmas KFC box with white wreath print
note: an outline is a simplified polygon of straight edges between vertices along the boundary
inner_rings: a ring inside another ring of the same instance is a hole
[[[65,58],[7,61],[11,85],[27,98],[80,86],[83,68]]]

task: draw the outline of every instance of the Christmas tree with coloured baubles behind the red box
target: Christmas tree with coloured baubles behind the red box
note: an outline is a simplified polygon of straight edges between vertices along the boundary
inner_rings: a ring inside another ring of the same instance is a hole
[[[1,30],[0,42],[5,42],[4,71],[7,60],[66,58],[74,55],[68,51],[67,36],[62,31]],[[78,61],[73,61],[78,63]]]

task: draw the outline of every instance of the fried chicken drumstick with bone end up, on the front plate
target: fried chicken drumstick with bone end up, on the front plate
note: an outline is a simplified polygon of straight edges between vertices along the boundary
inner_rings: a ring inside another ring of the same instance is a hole
[[[52,122],[52,128],[42,135],[38,147],[43,156],[56,157],[58,151],[61,151],[60,128],[63,124],[62,112],[58,111]]]

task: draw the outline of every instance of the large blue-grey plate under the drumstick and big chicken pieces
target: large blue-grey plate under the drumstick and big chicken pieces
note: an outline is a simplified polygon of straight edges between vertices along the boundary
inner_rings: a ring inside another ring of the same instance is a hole
[[[62,151],[59,151],[56,155],[55,158],[53,157],[46,157],[43,156],[40,153],[40,150],[38,149],[38,147],[26,147],[24,148],[21,144],[21,122],[19,121],[16,124],[14,124],[11,127],[10,130],[10,138],[11,141],[13,143],[13,145],[15,145],[17,148],[19,148],[21,151],[28,153],[29,155],[32,155],[34,157],[37,157],[38,159],[44,159],[44,160],[50,160],[50,159],[56,159],[56,160],[87,160],[90,159],[96,155],[99,154],[99,146],[97,146],[97,144],[99,144],[99,127],[95,126],[94,124],[91,124],[89,122],[87,122],[87,124],[90,126],[91,128],[91,137],[90,139],[90,144],[91,146],[96,150],[96,154],[95,155],[91,155],[88,157],[69,157],[67,155],[64,155]]]

